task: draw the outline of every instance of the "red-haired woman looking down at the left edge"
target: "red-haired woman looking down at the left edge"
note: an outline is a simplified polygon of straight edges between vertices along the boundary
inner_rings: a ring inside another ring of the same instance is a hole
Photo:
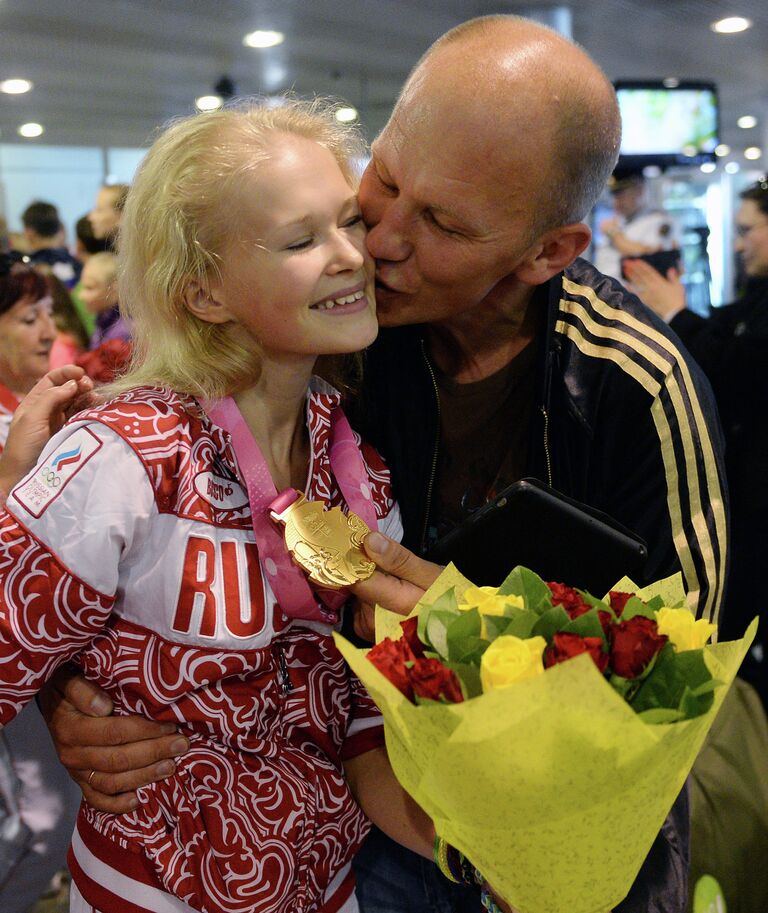
[[[0,254],[0,453],[14,413],[48,370],[56,338],[51,308],[46,278],[20,255]],[[26,913],[64,868],[77,800],[30,704],[0,733],[3,913]]]

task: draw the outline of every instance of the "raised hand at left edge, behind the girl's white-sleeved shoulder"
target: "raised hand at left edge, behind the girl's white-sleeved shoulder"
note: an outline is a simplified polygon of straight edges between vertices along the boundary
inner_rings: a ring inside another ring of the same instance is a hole
[[[75,365],[55,368],[39,380],[14,413],[0,457],[0,489],[7,494],[32,469],[51,435],[92,397],[93,381]]]

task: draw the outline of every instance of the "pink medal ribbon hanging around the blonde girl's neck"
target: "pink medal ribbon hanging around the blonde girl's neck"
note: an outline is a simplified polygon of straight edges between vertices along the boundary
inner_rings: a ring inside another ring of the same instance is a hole
[[[312,591],[303,571],[294,564],[286,550],[282,534],[270,518],[271,510],[280,512],[295,500],[295,489],[287,488],[278,494],[259,445],[231,396],[215,402],[204,402],[202,405],[211,421],[228,432],[232,440],[248,492],[259,557],[280,609],[291,618],[336,624],[339,609],[346,600],[345,594],[339,590]],[[331,470],[348,507],[369,529],[376,529],[376,510],[368,473],[352,428],[338,407],[331,412],[328,452]]]

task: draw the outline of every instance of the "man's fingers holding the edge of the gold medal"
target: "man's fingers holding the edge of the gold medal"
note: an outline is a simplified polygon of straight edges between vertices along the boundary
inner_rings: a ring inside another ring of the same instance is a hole
[[[369,533],[363,548],[378,570],[351,589],[361,603],[367,603],[369,613],[378,604],[400,615],[410,614],[443,570],[439,564],[424,561],[381,533]]]

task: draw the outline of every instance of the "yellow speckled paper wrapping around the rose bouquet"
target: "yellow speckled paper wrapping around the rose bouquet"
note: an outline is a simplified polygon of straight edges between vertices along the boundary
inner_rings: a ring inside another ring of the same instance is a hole
[[[449,568],[423,602],[468,585]],[[378,639],[399,636],[401,620],[377,614]],[[588,655],[461,704],[416,706],[335,636],[384,715],[398,780],[437,833],[519,913],[606,913],[627,895],[756,629],[705,648],[723,682],[712,708],[665,725],[642,722]]]

